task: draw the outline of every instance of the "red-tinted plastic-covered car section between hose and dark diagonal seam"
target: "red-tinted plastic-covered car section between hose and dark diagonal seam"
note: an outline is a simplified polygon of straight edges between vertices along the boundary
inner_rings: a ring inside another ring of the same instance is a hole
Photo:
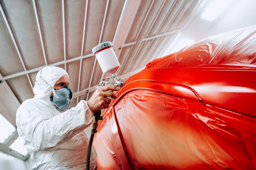
[[[104,128],[98,128],[100,130],[93,141],[95,150],[100,151],[96,161],[101,163],[97,164],[97,169],[113,170],[129,167],[113,116],[113,109],[104,114],[100,126]]]

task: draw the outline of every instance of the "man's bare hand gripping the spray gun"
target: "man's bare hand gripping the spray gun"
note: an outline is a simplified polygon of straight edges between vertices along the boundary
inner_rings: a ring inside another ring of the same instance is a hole
[[[87,101],[89,109],[92,112],[95,112],[103,108],[108,108],[111,99],[107,97],[116,98],[117,94],[114,91],[117,91],[118,89],[119,88],[115,86],[103,86],[95,90],[91,98]]]

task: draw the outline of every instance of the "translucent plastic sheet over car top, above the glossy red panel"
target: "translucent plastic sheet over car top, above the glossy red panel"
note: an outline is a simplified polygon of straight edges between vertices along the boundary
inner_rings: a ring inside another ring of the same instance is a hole
[[[210,36],[176,53],[155,59],[146,68],[256,64],[256,25]]]

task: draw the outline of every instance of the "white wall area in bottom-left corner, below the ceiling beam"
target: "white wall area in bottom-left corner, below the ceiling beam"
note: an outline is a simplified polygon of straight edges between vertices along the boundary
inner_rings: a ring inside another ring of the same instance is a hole
[[[26,161],[16,158],[12,155],[0,152],[1,170],[31,170]]]

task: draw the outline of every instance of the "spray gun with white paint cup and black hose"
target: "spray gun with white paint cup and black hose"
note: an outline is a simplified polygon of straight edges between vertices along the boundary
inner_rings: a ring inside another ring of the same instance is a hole
[[[96,56],[99,66],[101,66],[103,73],[111,74],[111,76],[106,77],[106,79],[108,79],[107,81],[100,81],[99,85],[95,86],[95,88],[100,88],[102,86],[107,85],[122,87],[123,84],[125,84],[125,82],[123,82],[122,79],[119,79],[117,77],[117,71],[120,67],[120,63],[117,59],[117,56],[114,53],[113,44],[111,42],[100,43],[92,49],[92,52]],[[86,170],[89,170],[91,146],[93,143],[94,134],[97,133],[96,128],[98,127],[98,120],[103,119],[103,117],[101,116],[101,110],[96,111],[94,113],[94,116],[95,119],[93,123],[93,128],[91,129],[91,137],[87,151]]]

